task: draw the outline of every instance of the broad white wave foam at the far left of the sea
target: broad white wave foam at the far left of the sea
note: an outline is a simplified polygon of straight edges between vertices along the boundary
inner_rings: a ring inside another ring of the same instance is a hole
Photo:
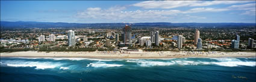
[[[56,68],[61,66],[61,63],[52,63],[52,62],[25,62],[22,60],[11,60],[1,63],[1,66],[13,66],[13,67],[36,67],[35,69],[49,69]]]

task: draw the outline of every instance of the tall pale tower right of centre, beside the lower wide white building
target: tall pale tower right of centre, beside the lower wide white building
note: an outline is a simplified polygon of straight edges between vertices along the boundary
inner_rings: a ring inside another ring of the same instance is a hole
[[[159,31],[152,31],[150,33],[151,33],[151,35],[150,35],[151,43],[155,43],[155,45],[158,46],[159,42],[160,42],[160,40],[159,40]]]

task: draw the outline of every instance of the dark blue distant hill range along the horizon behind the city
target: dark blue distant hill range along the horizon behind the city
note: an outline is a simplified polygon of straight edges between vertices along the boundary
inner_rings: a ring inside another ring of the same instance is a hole
[[[125,25],[133,28],[240,28],[256,26],[255,23],[63,23],[63,22],[5,22],[1,28],[123,28]]]

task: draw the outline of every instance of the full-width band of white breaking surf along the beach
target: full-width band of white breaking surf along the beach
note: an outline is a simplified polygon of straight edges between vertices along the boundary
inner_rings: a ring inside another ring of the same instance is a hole
[[[83,69],[80,62],[93,68],[108,68],[127,65],[143,67],[172,66],[172,65],[218,65],[218,66],[256,66],[255,57],[252,58],[173,58],[173,59],[88,59],[65,57],[19,57],[21,60],[1,60],[1,66],[33,67],[35,69]],[[40,59],[40,60],[23,60]],[[41,60],[53,59],[53,60]],[[55,60],[93,60],[93,61],[55,61]],[[111,61],[111,62],[108,62]],[[75,62],[75,64],[73,63]],[[78,63],[79,62],[79,63]],[[130,62],[130,63],[127,63]],[[119,64],[116,64],[119,63]],[[74,65],[74,66],[73,66]]]

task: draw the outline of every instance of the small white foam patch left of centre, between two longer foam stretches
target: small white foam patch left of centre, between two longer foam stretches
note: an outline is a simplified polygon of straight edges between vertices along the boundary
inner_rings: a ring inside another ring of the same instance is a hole
[[[95,67],[95,68],[107,68],[107,67],[114,67],[114,66],[123,66],[123,65],[118,65],[118,64],[107,64],[104,62],[96,62],[96,63],[89,63],[87,67]]]

